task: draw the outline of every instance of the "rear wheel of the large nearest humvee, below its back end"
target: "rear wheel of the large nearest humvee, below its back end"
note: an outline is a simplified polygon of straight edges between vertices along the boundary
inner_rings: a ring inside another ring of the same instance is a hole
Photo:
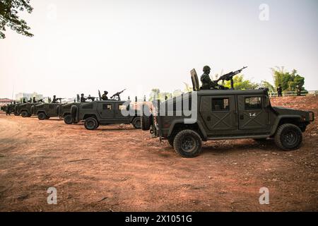
[[[173,141],[173,147],[182,157],[196,157],[202,150],[201,136],[191,129],[179,131]]]

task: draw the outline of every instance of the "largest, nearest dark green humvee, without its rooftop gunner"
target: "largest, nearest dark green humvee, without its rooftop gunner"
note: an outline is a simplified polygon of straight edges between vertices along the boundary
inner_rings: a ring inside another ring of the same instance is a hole
[[[159,103],[153,111],[144,107],[141,117],[144,131],[167,139],[182,157],[195,157],[201,141],[218,139],[273,138],[279,148],[294,150],[314,121],[314,112],[272,107],[266,89],[200,90],[193,70],[192,83],[192,93]]]

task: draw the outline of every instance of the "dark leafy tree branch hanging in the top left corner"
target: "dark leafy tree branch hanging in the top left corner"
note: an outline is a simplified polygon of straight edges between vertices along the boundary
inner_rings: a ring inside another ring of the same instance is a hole
[[[30,6],[30,0],[1,0],[0,1],[0,38],[4,39],[4,31],[6,27],[15,30],[18,34],[32,37],[28,30],[25,20],[18,17],[18,11],[26,10],[28,13],[32,13],[33,8]]]

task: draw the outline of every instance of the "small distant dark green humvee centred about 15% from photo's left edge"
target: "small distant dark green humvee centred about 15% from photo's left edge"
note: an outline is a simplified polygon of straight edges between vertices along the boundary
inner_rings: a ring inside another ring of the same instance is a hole
[[[60,103],[41,103],[40,105],[31,106],[31,114],[37,115],[40,120],[49,119],[50,117],[59,117]]]

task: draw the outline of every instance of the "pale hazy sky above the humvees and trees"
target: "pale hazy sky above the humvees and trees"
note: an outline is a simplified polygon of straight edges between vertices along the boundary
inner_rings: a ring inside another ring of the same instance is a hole
[[[264,5],[265,4],[265,5]],[[0,97],[16,93],[126,99],[152,88],[172,93],[205,65],[211,74],[248,66],[273,82],[284,66],[318,90],[317,0],[34,0],[20,13],[34,37],[7,28],[0,40]]]

